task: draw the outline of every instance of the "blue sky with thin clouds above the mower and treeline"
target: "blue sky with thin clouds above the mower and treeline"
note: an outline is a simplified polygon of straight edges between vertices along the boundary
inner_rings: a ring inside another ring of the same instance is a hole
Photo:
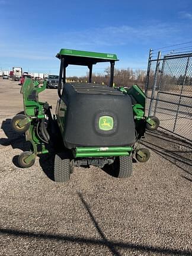
[[[116,53],[117,68],[146,69],[150,48],[192,41],[191,28],[191,0],[0,0],[0,69],[59,73],[61,48]]]

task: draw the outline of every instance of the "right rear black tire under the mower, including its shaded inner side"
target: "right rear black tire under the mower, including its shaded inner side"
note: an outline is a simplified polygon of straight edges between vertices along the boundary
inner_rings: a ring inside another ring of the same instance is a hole
[[[116,178],[128,178],[133,173],[132,156],[120,156],[114,159],[111,166],[112,175]]]

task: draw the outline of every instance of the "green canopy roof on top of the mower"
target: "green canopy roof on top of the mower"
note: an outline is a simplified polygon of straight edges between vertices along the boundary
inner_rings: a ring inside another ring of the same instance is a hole
[[[97,62],[117,61],[117,55],[111,53],[85,52],[81,50],[61,49],[56,57],[64,59],[72,65],[92,65]]]

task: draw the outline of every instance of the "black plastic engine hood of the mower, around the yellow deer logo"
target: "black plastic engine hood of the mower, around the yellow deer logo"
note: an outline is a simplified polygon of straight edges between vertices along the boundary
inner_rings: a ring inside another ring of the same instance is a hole
[[[66,105],[63,142],[78,146],[132,146],[135,122],[129,95],[100,84],[66,83],[62,93]],[[113,130],[100,130],[101,116],[114,119]]]

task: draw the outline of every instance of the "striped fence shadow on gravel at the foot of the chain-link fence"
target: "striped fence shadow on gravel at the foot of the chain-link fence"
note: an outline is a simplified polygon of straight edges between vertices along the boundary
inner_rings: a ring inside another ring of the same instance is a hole
[[[141,144],[176,165],[192,178],[192,144],[190,142],[155,131],[147,132],[146,139],[141,140]],[[192,181],[191,178],[183,175],[181,177]]]

